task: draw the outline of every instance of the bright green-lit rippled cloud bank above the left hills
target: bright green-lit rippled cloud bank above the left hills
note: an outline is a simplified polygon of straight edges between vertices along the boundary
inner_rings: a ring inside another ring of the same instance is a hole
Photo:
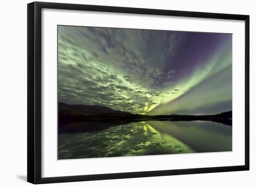
[[[61,59],[60,59],[61,60]],[[148,91],[127,81],[100,62],[83,64],[59,63],[59,101],[70,104],[104,105],[112,109],[144,113],[145,106],[156,104],[164,93]]]

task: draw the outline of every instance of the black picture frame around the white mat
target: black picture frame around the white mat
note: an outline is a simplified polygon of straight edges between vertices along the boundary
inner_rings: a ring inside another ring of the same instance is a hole
[[[245,21],[245,164],[243,166],[189,168],[132,173],[107,173],[63,177],[41,176],[41,10],[42,8],[111,13],[150,14]],[[249,15],[157,10],[130,7],[94,6],[49,2],[27,4],[27,181],[33,184],[108,180],[178,174],[216,173],[249,170]]]

